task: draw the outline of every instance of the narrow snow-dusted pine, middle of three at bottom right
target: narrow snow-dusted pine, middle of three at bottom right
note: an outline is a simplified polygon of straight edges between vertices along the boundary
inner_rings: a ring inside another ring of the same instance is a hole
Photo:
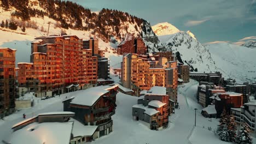
[[[236,141],[236,122],[235,117],[233,115],[228,116],[228,133],[229,133],[229,141]]]

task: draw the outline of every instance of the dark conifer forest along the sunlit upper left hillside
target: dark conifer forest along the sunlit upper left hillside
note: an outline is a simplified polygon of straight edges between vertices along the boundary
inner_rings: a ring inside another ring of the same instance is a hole
[[[119,10],[102,9],[98,14],[93,13],[90,9],[84,8],[79,4],[61,1],[61,0],[38,0],[29,3],[28,0],[0,0],[2,7],[5,10],[9,10],[14,7],[16,10],[12,13],[12,16],[20,17],[24,21],[30,20],[31,17],[44,17],[59,21],[61,27],[68,29],[78,29],[84,31],[92,31],[92,33],[100,34],[103,40],[109,40],[110,35],[116,37],[122,37],[120,28],[124,28],[125,31],[129,28],[123,26],[122,23],[130,22],[137,23],[135,29],[143,27],[143,19],[139,19],[136,16],[124,13]],[[34,9],[39,6],[43,10]],[[138,27],[137,27],[138,26]]]

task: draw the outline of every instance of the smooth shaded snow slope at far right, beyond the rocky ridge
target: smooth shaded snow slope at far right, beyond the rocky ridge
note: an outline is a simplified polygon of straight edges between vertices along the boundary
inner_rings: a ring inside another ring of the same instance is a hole
[[[228,43],[207,44],[206,49],[226,78],[232,77],[241,82],[256,80],[256,49]]]

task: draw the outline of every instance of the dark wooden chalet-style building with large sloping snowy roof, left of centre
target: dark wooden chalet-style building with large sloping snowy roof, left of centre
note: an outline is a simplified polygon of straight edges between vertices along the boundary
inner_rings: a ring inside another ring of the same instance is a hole
[[[118,85],[98,86],[75,93],[63,101],[63,110],[75,112],[74,118],[84,125],[97,126],[98,137],[113,131]]]

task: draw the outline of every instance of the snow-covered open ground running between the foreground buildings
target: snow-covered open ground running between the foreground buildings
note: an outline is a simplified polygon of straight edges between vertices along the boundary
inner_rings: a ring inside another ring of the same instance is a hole
[[[180,109],[170,117],[169,127],[164,130],[155,131],[148,129],[141,122],[132,120],[132,105],[137,104],[137,97],[123,93],[117,94],[117,110],[113,119],[113,132],[103,136],[91,143],[227,143],[220,141],[213,130],[217,128],[218,120],[204,118],[201,116],[202,107],[196,103],[196,89],[198,82],[190,80],[178,88],[178,102]],[[5,117],[0,121],[0,140],[8,140],[11,134],[11,126],[23,120],[22,114],[27,118],[38,113],[50,111],[62,111],[61,101],[71,97],[73,93],[62,94],[48,100],[39,100],[39,104],[32,109],[26,109]],[[193,129],[195,111],[196,127]],[[211,127],[212,131],[207,128]],[[255,142],[255,139],[254,139]]]

